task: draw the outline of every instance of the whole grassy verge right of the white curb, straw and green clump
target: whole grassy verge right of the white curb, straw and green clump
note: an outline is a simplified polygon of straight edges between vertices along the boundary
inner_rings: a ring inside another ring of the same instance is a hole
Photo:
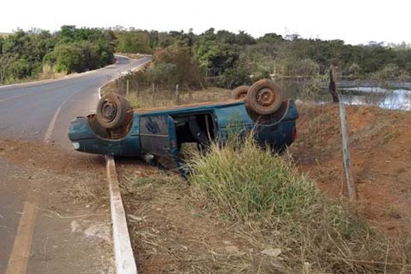
[[[141,271],[411,271],[407,233],[369,225],[356,205],[325,195],[292,155],[233,137],[225,147],[192,153],[188,164],[186,182],[172,172],[121,164]]]

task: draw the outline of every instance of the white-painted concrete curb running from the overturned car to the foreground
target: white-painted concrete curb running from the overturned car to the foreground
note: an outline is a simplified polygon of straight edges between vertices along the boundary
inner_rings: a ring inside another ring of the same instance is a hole
[[[110,190],[110,208],[112,214],[114,256],[116,258],[116,274],[137,274],[132,242],[129,238],[127,220],[116,173],[114,158],[105,156],[107,163],[107,180]]]

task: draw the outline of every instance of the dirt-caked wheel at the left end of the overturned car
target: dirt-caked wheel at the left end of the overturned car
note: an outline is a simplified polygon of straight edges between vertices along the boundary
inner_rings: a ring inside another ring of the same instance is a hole
[[[101,97],[97,104],[97,120],[106,129],[115,129],[123,125],[130,109],[127,99],[110,93]]]

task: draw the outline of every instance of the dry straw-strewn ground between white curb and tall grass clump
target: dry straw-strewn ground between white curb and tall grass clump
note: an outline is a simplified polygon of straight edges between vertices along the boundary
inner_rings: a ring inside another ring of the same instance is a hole
[[[175,173],[121,165],[129,231],[142,273],[283,273],[235,223],[202,210]],[[234,226],[233,226],[234,225]]]

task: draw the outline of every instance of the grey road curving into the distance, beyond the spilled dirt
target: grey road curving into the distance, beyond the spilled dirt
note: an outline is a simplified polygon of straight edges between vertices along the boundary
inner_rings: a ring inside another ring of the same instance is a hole
[[[0,138],[47,138],[67,145],[71,119],[95,110],[99,87],[122,71],[150,60],[149,57],[129,60],[118,55],[116,58],[116,64],[65,79],[0,86]]]

